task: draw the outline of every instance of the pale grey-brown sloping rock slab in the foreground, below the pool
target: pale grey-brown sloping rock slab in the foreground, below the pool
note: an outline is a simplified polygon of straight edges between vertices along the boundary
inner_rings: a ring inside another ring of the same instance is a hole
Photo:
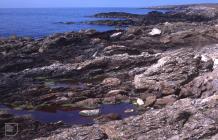
[[[211,139],[217,138],[217,95],[204,99],[181,99],[172,106],[150,110],[122,121],[89,127],[62,129],[50,139],[82,139],[83,130],[104,133],[105,139]],[[59,134],[57,134],[59,133]],[[88,136],[88,135],[86,135]],[[39,138],[46,139],[46,138]]]

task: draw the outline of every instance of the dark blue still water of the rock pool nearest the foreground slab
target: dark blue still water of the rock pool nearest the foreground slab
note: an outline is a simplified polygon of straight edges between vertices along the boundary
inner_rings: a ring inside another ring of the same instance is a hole
[[[120,103],[120,104],[104,104],[99,107],[100,115],[106,115],[110,113],[116,113],[120,116],[121,119],[137,115],[137,112],[129,112],[125,113],[127,109],[134,109],[136,107],[129,103]],[[31,115],[31,117],[35,120],[38,120],[43,123],[54,123],[58,121],[62,121],[65,124],[92,124],[94,123],[94,117],[83,117],[79,115],[81,110],[74,109],[70,111],[64,110],[50,110],[50,111],[30,111],[30,110],[15,110],[6,107],[5,105],[0,105],[0,110],[7,110],[8,113],[13,114],[15,116],[23,116],[23,115]]]

